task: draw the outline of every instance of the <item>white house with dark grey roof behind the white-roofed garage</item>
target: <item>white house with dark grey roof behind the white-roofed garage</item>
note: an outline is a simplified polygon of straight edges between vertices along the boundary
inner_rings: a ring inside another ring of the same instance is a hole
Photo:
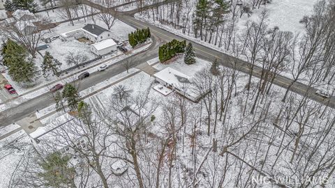
[[[82,28],[84,36],[93,42],[100,42],[112,38],[112,33],[96,24],[87,24]]]

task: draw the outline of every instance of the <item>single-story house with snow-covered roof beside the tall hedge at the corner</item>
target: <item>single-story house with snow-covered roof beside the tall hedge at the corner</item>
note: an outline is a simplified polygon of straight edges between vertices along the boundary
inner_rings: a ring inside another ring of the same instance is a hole
[[[199,93],[191,81],[191,77],[170,67],[156,72],[153,77],[159,84],[176,91],[193,102],[198,102],[203,95],[208,93]]]

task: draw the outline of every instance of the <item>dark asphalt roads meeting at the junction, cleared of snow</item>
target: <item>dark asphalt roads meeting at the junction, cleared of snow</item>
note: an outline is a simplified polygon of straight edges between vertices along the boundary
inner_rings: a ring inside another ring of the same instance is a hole
[[[99,8],[99,6],[94,6],[94,8]],[[131,67],[135,67],[140,63],[144,63],[145,61],[148,61],[149,59],[156,57],[158,53],[158,46],[161,45],[162,42],[167,42],[172,39],[186,40],[185,38],[181,38],[180,36],[175,35],[174,33],[170,33],[169,31],[165,31],[156,26],[135,19],[133,17],[134,13],[135,11],[131,11],[130,13],[118,13],[117,17],[126,24],[129,24],[138,29],[149,27],[151,31],[151,36],[153,37],[154,40],[154,44],[146,52],[142,54],[136,54],[135,56],[131,56],[130,57],[132,62]],[[188,42],[191,41],[188,40]],[[223,65],[225,65],[226,67],[231,67],[232,65],[231,63],[234,62],[236,63],[237,70],[245,73],[250,72],[249,65],[245,61],[229,56],[228,54],[224,54],[223,52],[218,52],[215,49],[205,47],[204,45],[200,45],[195,42],[192,43],[193,48],[195,49],[195,54],[199,58],[203,58],[207,61],[214,61],[215,59],[218,59],[218,61]],[[91,74],[90,77],[80,81],[80,91],[84,90],[85,88],[89,88],[90,86],[94,86],[95,84],[98,84],[99,82],[104,81],[105,79],[118,75],[119,73],[125,70],[126,69],[124,68],[123,65],[121,65],[121,62],[119,62],[114,64],[111,68],[105,70],[104,72],[96,72],[94,74]],[[256,66],[254,68],[253,75],[255,77],[260,77],[261,72],[262,69]],[[277,76],[276,79],[274,80],[274,84],[276,84],[277,86],[281,86],[283,88],[288,88],[291,82],[292,82],[291,79],[282,76]],[[331,97],[325,100],[323,97],[315,95],[316,90],[314,88],[308,88],[308,86],[296,82],[295,84],[292,85],[290,90],[292,92],[298,93],[299,95],[306,95],[307,93],[308,97],[311,98],[312,100],[328,105],[329,107],[335,109],[335,97]],[[24,102],[23,104],[20,104],[19,107],[14,107],[12,109],[8,109],[6,111],[1,112],[0,115],[1,125],[6,126],[9,125],[10,123],[14,123],[17,120],[20,120],[26,116],[29,116],[31,113],[34,113],[36,109],[43,109],[45,107],[50,106],[53,103],[54,100],[52,100],[51,93],[46,93],[45,95],[41,95],[32,100]]]

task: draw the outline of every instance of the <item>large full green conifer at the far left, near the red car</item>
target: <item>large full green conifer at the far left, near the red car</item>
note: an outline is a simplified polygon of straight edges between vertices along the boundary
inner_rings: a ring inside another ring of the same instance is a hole
[[[8,40],[4,61],[9,68],[8,75],[19,83],[32,83],[38,77],[38,69],[27,50],[13,40]]]

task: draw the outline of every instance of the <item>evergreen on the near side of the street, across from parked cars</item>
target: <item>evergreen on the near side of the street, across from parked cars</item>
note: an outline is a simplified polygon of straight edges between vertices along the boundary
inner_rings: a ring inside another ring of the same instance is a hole
[[[80,95],[77,88],[71,84],[66,84],[62,93],[62,97],[68,102],[68,107],[70,111],[75,111],[78,107],[78,102],[80,102]]]

